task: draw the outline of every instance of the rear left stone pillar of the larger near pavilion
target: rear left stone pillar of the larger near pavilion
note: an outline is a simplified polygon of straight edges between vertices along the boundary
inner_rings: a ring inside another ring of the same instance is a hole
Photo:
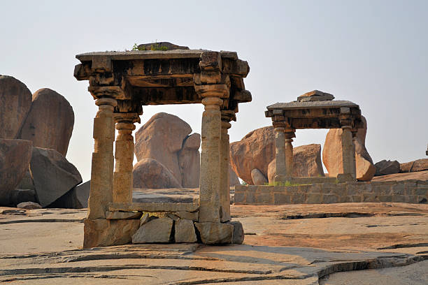
[[[115,173],[113,178],[113,202],[132,202],[132,162],[134,161],[134,122],[139,121],[136,113],[120,113],[115,117],[118,131],[115,142]]]

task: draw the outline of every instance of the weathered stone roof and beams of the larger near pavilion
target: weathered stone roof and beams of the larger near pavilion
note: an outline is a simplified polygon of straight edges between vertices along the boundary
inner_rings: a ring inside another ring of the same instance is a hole
[[[243,82],[250,67],[236,52],[132,50],[87,52],[76,58],[81,64],[75,67],[75,78],[90,81],[94,98],[100,89],[114,92],[115,112],[140,113],[142,105],[201,103],[202,85],[227,89],[221,110],[238,112],[238,103],[252,100]]]

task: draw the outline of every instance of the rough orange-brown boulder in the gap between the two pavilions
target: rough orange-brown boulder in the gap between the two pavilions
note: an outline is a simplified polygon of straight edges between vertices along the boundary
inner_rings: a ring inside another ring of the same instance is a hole
[[[251,170],[255,168],[267,177],[269,163],[274,157],[273,126],[251,131],[242,140],[230,144],[231,167],[238,177],[248,184],[252,184]]]

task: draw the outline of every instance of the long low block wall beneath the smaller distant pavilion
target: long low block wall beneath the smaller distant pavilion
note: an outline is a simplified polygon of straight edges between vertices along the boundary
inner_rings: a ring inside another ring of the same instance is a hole
[[[427,203],[428,181],[318,183],[299,186],[236,185],[234,203],[330,204],[360,202]]]

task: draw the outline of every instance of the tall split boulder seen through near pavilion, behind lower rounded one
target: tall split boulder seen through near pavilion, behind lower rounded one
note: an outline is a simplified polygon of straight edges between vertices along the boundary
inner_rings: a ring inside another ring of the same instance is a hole
[[[157,113],[135,135],[138,161],[155,159],[168,168],[180,187],[199,187],[201,136],[177,116]]]

